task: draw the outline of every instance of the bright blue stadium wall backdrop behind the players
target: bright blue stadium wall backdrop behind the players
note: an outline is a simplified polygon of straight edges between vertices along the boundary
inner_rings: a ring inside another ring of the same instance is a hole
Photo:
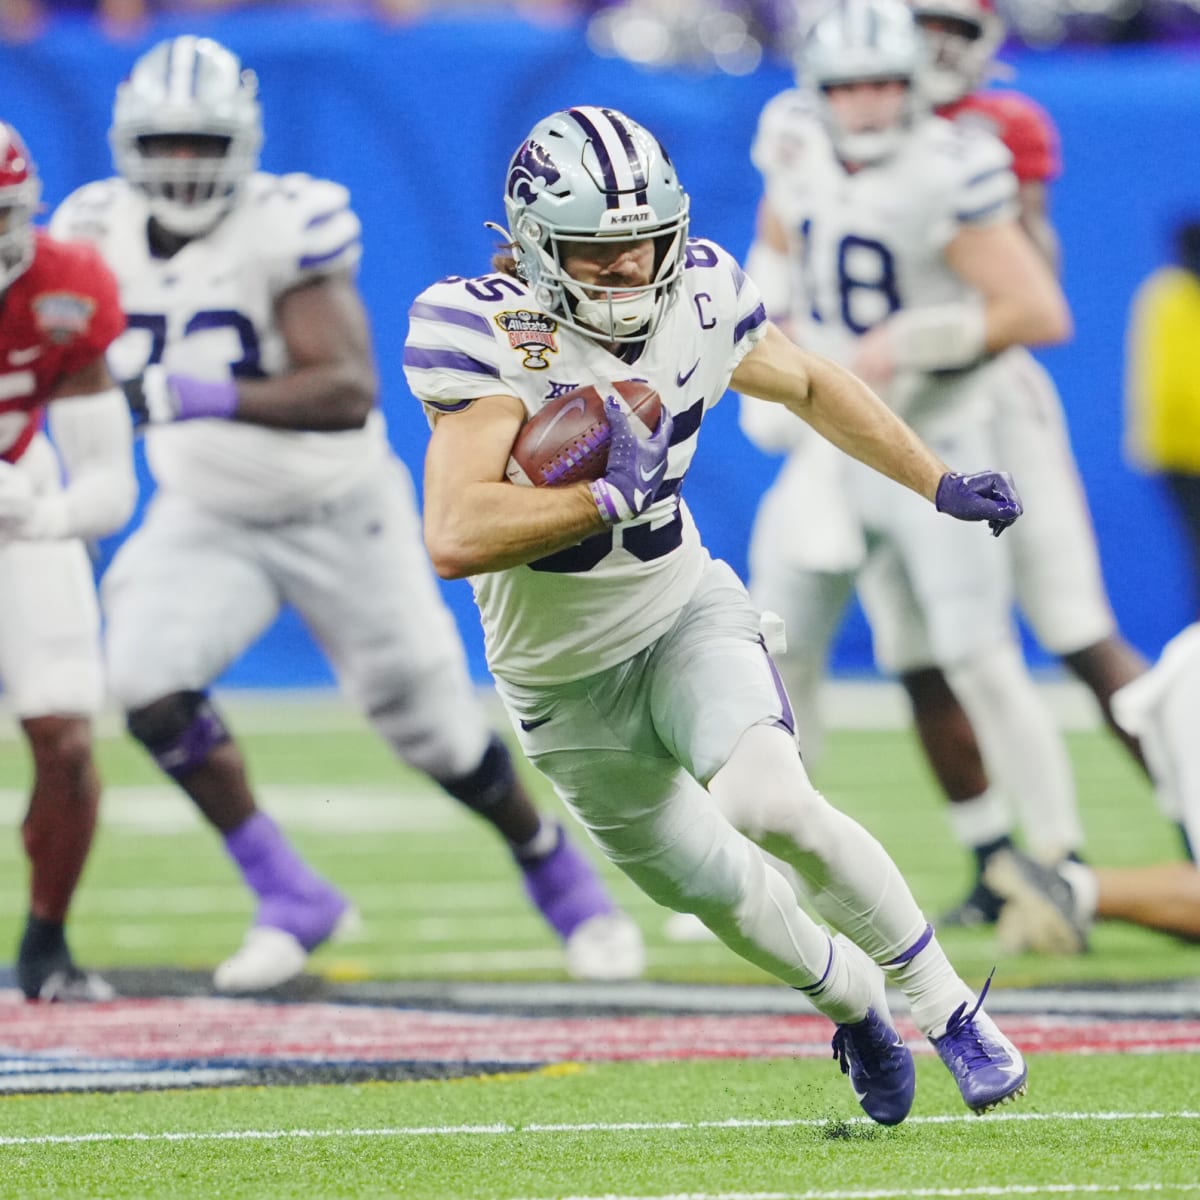
[[[418,478],[426,427],[400,367],[407,308],[432,280],[486,270],[494,239],[482,222],[502,217],[504,167],[528,127],[572,103],[628,110],[671,150],[692,196],[694,230],[742,254],[757,199],[748,158],[755,120],[790,84],[782,67],[743,79],[649,72],[598,58],[578,29],[506,18],[391,29],[367,18],[240,14],[164,20],[130,43],[64,23],[32,44],[0,47],[0,115],[29,142],[48,204],[110,173],[113,90],[140,50],[180,32],[211,34],[257,70],[265,169],[306,170],[352,188],[365,228],[361,281],[383,406]],[[1123,334],[1129,298],[1166,256],[1171,224],[1200,209],[1189,132],[1200,112],[1200,70],[1184,52],[1140,49],[1015,62],[1020,85],[1057,120],[1067,161],[1054,208],[1078,332],[1045,361],[1066,398],[1117,613],[1133,641],[1157,653],[1189,619],[1189,580],[1156,484],[1121,456]],[[775,464],[745,442],[736,416],[725,403],[706,424],[686,494],[710,548],[744,572],[755,502]],[[485,679],[469,588],[450,584],[446,595],[473,671]],[[835,667],[870,670],[857,614]],[[299,623],[284,618],[226,682],[306,686],[329,678]]]

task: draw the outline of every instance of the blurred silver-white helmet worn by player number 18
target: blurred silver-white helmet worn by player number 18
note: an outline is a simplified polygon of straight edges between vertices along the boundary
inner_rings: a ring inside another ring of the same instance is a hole
[[[917,116],[929,110],[920,88],[924,66],[925,43],[904,0],[838,0],[809,29],[796,70],[839,156],[847,162],[872,163],[895,154]],[[842,130],[827,89],[892,79],[908,89],[900,120],[889,128]]]

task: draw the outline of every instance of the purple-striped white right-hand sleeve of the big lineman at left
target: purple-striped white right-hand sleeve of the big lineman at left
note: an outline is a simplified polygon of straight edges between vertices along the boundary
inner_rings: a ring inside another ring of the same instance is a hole
[[[257,176],[264,186],[253,197],[258,246],[270,290],[292,288],[328,275],[353,274],[362,258],[362,226],[341,184],[311,175]]]

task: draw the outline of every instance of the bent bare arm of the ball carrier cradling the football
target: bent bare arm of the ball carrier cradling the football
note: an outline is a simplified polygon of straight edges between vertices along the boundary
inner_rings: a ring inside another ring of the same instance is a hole
[[[425,545],[443,578],[532,562],[600,533],[586,484],[518,487],[504,479],[524,410],[487,397],[440,418],[425,460]]]

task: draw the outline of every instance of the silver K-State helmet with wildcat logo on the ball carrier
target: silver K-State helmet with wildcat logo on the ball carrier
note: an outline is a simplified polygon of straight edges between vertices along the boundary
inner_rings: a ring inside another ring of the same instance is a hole
[[[688,194],[648,130],[611,108],[569,108],[539,121],[509,163],[509,238],[538,304],[569,329],[605,342],[643,342],[683,278]],[[563,242],[654,239],[641,288],[584,289],[563,266]]]

